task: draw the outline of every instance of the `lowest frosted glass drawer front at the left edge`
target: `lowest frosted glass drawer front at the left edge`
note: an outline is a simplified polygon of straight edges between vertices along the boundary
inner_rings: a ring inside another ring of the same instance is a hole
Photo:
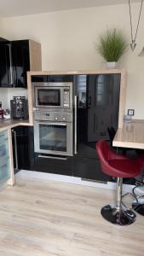
[[[9,158],[0,164],[0,184],[6,182],[10,177]]]

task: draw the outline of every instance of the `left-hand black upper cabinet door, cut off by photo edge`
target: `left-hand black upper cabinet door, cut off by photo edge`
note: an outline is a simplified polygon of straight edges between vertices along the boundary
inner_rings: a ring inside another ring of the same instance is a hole
[[[9,87],[12,83],[10,68],[10,42],[0,38],[0,87]]]

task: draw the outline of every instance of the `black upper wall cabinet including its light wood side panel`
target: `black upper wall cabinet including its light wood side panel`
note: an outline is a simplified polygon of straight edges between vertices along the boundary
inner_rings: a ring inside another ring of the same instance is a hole
[[[0,41],[0,86],[27,87],[27,71],[42,70],[41,45],[32,40]]]

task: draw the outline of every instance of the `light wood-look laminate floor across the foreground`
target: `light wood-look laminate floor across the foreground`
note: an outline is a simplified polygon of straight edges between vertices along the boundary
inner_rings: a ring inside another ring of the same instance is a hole
[[[144,255],[144,218],[101,217],[114,191],[19,177],[0,192],[0,256]]]

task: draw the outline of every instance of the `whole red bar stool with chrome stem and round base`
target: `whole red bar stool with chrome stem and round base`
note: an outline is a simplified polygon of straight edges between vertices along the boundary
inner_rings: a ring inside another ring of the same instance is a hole
[[[128,225],[135,222],[135,212],[122,203],[123,177],[135,177],[140,174],[136,160],[130,160],[122,154],[112,152],[108,144],[101,140],[95,146],[101,162],[101,171],[112,177],[117,177],[116,205],[102,207],[101,215],[112,224]]]

